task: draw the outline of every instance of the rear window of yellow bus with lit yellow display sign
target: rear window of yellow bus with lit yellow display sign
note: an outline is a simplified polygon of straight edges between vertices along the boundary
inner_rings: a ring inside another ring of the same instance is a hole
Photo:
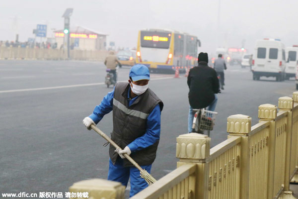
[[[170,40],[170,32],[141,31],[141,47],[168,49]]]

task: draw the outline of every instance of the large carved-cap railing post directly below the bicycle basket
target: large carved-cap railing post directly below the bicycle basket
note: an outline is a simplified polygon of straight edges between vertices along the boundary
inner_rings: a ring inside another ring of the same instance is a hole
[[[208,199],[210,138],[207,135],[188,133],[179,135],[176,144],[177,167],[183,164],[196,164],[196,178],[192,183],[194,199]],[[191,185],[191,184],[190,184]]]

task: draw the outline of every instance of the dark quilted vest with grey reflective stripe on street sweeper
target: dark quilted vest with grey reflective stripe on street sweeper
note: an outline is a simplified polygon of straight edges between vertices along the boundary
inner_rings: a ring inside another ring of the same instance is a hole
[[[163,108],[162,101],[150,89],[147,89],[129,107],[127,100],[129,87],[128,83],[117,83],[113,99],[113,132],[111,138],[122,149],[146,133],[147,117],[153,108],[157,104],[159,104],[160,110]],[[150,165],[155,160],[158,142],[159,140],[145,149],[132,152],[130,156],[139,165]],[[109,154],[113,164],[115,164],[118,153],[115,152],[112,145],[110,145]],[[124,166],[133,166],[133,164],[124,159]]]

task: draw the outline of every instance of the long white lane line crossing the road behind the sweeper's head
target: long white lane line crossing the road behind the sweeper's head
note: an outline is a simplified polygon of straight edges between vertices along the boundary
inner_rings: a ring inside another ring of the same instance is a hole
[[[166,79],[173,79],[173,77],[168,78],[153,78],[151,80],[166,80]],[[127,81],[119,81],[119,82],[127,82]],[[76,84],[76,85],[69,85],[69,86],[59,86],[59,87],[44,87],[44,88],[35,88],[35,89],[17,89],[17,90],[6,90],[0,91],[1,93],[13,93],[13,92],[25,92],[25,91],[41,91],[41,90],[51,90],[51,89],[65,89],[65,88],[74,88],[74,87],[88,87],[88,86],[97,86],[97,85],[104,85],[105,83],[93,83],[93,84]]]

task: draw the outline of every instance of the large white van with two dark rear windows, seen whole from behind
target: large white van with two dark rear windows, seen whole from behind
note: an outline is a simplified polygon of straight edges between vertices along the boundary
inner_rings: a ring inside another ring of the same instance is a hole
[[[276,81],[285,79],[286,52],[285,45],[279,39],[257,40],[253,60],[253,80],[260,77],[276,77]]]

